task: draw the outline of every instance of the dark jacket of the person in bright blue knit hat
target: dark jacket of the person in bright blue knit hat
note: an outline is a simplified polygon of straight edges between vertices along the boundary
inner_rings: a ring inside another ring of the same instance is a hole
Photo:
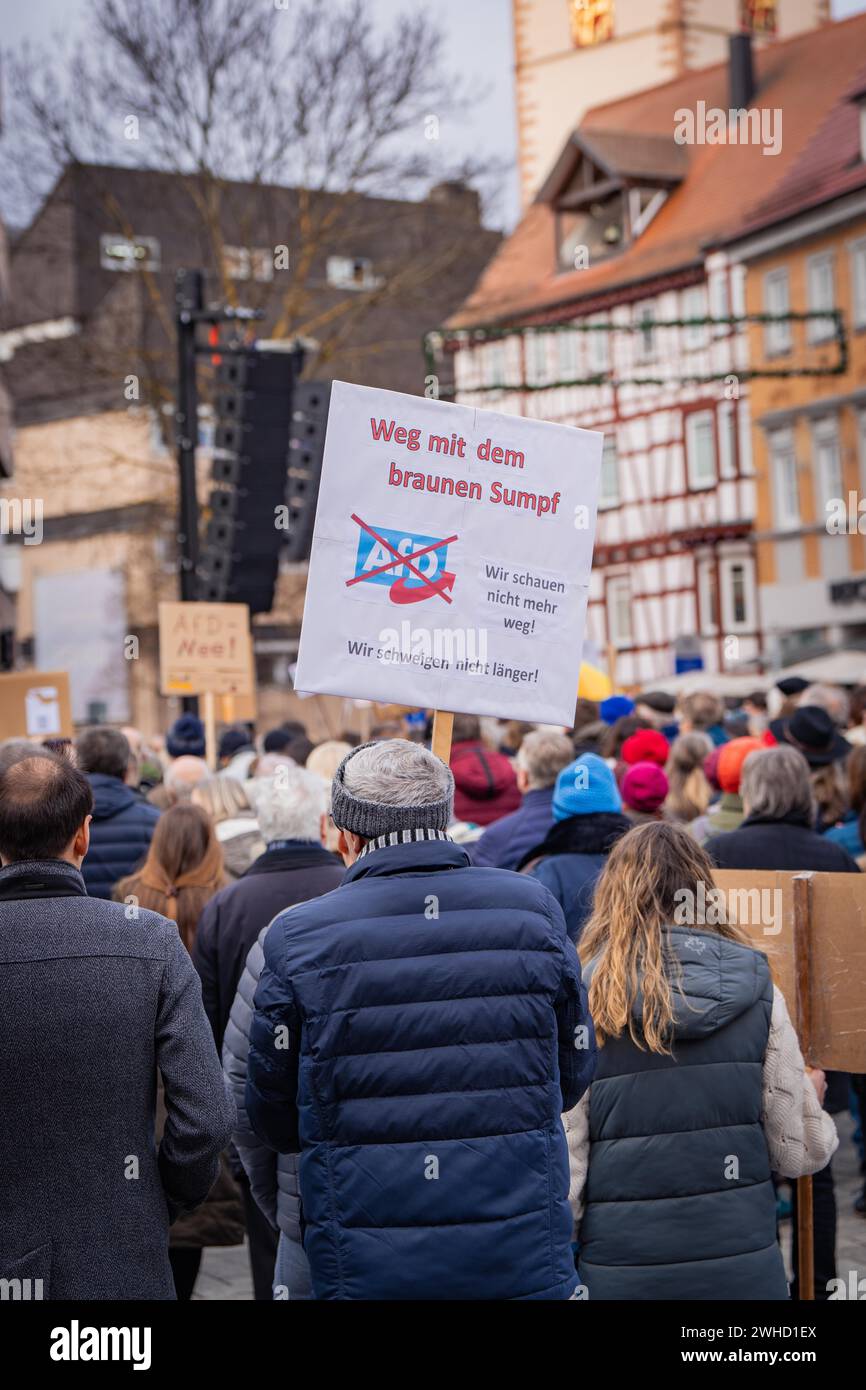
[[[617,840],[631,830],[627,816],[614,810],[557,820],[546,838],[524,855],[521,872],[549,888],[577,942],[592,912],[595,884]]]

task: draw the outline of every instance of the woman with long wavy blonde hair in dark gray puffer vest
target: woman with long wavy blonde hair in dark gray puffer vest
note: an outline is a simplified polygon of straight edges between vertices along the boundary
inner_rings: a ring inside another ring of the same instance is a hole
[[[787,1298],[771,1173],[816,1172],[838,1144],[767,958],[695,920],[712,888],[703,849],[662,821],[624,835],[596,887],[581,956],[599,1063],[564,1116],[589,1300]]]

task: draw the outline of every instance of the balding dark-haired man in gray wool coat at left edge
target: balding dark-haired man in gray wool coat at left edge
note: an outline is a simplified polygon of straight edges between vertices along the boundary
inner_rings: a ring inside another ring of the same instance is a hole
[[[235,1108],[175,924],[86,895],[92,803],[64,756],[0,759],[0,1279],[174,1298],[168,1226],[213,1186]]]

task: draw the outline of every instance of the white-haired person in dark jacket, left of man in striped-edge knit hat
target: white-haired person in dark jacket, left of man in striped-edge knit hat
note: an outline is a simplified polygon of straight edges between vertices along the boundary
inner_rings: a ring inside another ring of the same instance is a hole
[[[236,883],[204,908],[193,965],[202,977],[204,1009],[238,1102],[235,1144],[240,1161],[235,1162],[235,1176],[246,1212],[256,1298],[272,1297],[278,1234],[286,1243],[281,1283],[291,1286],[293,1298],[304,1298],[310,1279],[299,1234],[297,1165],[295,1158],[278,1158],[265,1148],[246,1122],[246,1059],[253,995],[264,963],[260,937],[277,913],[336,888],[343,866],[320,842],[327,819],[327,792],[320,777],[291,763],[278,767],[274,777],[245,785],[265,848]]]

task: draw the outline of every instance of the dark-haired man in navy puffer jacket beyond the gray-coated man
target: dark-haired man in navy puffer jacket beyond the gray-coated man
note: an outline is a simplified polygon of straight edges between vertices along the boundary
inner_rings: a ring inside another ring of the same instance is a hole
[[[90,848],[81,872],[90,898],[110,898],[115,883],[145,859],[160,813],[125,783],[132,751],[118,728],[85,728],[75,755],[93,791]]]

